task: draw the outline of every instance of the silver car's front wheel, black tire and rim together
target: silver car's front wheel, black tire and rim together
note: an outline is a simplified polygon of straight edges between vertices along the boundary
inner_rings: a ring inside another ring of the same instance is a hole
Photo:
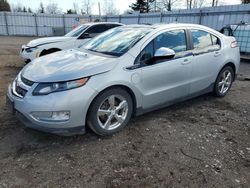
[[[93,100],[87,115],[87,125],[98,135],[111,135],[128,124],[132,112],[133,102],[128,92],[111,88]]]

